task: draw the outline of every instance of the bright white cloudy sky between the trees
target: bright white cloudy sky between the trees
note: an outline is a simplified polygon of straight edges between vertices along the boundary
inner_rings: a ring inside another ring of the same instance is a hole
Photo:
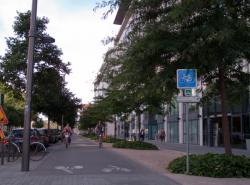
[[[102,40],[115,36],[119,26],[114,25],[115,13],[102,18],[104,9],[93,11],[101,0],[38,0],[37,16],[47,17],[47,33],[55,38],[62,49],[64,62],[71,63],[72,72],[66,76],[67,88],[88,103],[94,97],[95,77],[102,65],[103,56],[111,45]],[[0,0],[0,56],[3,56],[6,38],[13,37],[13,22],[18,12],[31,10],[32,0]]]

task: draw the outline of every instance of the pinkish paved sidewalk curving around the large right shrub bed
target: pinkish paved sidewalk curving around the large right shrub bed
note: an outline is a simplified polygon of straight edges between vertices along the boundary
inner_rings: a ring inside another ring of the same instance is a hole
[[[112,145],[107,143],[104,144],[104,146],[131,160],[140,162],[182,185],[250,185],[250,179],[247,178],[210,178],[168,172],[166,170],[168,163],[179,156],[185,155],[184,152],[169,149],[160,149],[159,151],[116,149],[112,148]]]

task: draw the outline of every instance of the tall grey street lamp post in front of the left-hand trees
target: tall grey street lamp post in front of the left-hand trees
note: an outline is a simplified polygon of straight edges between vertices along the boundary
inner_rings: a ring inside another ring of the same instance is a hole
[[[31,122],[31,96],[32,96],[32,75],[33,75],[33,59],[35,48],[35,30],[36,30],[36,13],[37,0],[32,0],[32,10],[30,18],[29,46],[27,60],[27,82],[26,82],[26,98],[24,107],[24,134],[23,134],[23,154],[22,154],[22,171],[29,171],[29,147],[30,147],[30,122]],[[55,42],[50,37],[40,38],[48,43]]]

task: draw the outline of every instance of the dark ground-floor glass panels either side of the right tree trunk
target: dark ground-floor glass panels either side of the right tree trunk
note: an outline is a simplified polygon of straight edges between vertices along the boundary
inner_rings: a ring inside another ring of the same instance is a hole
[[[228,122],[232,147],[245,148],[245,139],[250,138],[249,93],[239,98],[239,103],[228,106]],[[203,142],[208,146],[223,146],[222,118],[219,100],[204,106]],[[212,108],[215,108],[214,110]]]

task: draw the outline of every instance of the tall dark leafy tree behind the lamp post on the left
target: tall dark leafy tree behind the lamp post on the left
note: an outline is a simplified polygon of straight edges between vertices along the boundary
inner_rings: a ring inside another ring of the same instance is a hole
[[[8,49],[0,63],[0,81],[19,94],[25,91],[30,15],[30,11],[17,13],[13,25],[15,37],[7,38]],[[57,121],[59,114],[65,114],[65,119],[73,125],[75,123],[73,116],[77,114],[80,100],[65,88],[63,76],[70,73],[70,63],[63,63],[62,51],[55,44],[47,43],[44,39],[49,36],[46,33],[48,23],[49,20],[45,17],[37,18],[32,113],[44,113],[49,119]],[[68,111],[63,112],[60,108],[62,104],[71,109],[63,106],[64,110]]]

